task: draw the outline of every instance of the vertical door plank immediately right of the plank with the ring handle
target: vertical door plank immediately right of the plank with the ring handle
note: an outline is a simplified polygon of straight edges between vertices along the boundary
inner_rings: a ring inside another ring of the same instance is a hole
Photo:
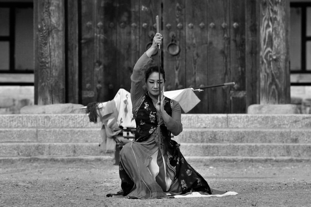
[[[187,2],[186,13],[186,87],[207,86],[207,1]],[[201,100],[189,113],[207,113],[207,91],[197,93]]]

